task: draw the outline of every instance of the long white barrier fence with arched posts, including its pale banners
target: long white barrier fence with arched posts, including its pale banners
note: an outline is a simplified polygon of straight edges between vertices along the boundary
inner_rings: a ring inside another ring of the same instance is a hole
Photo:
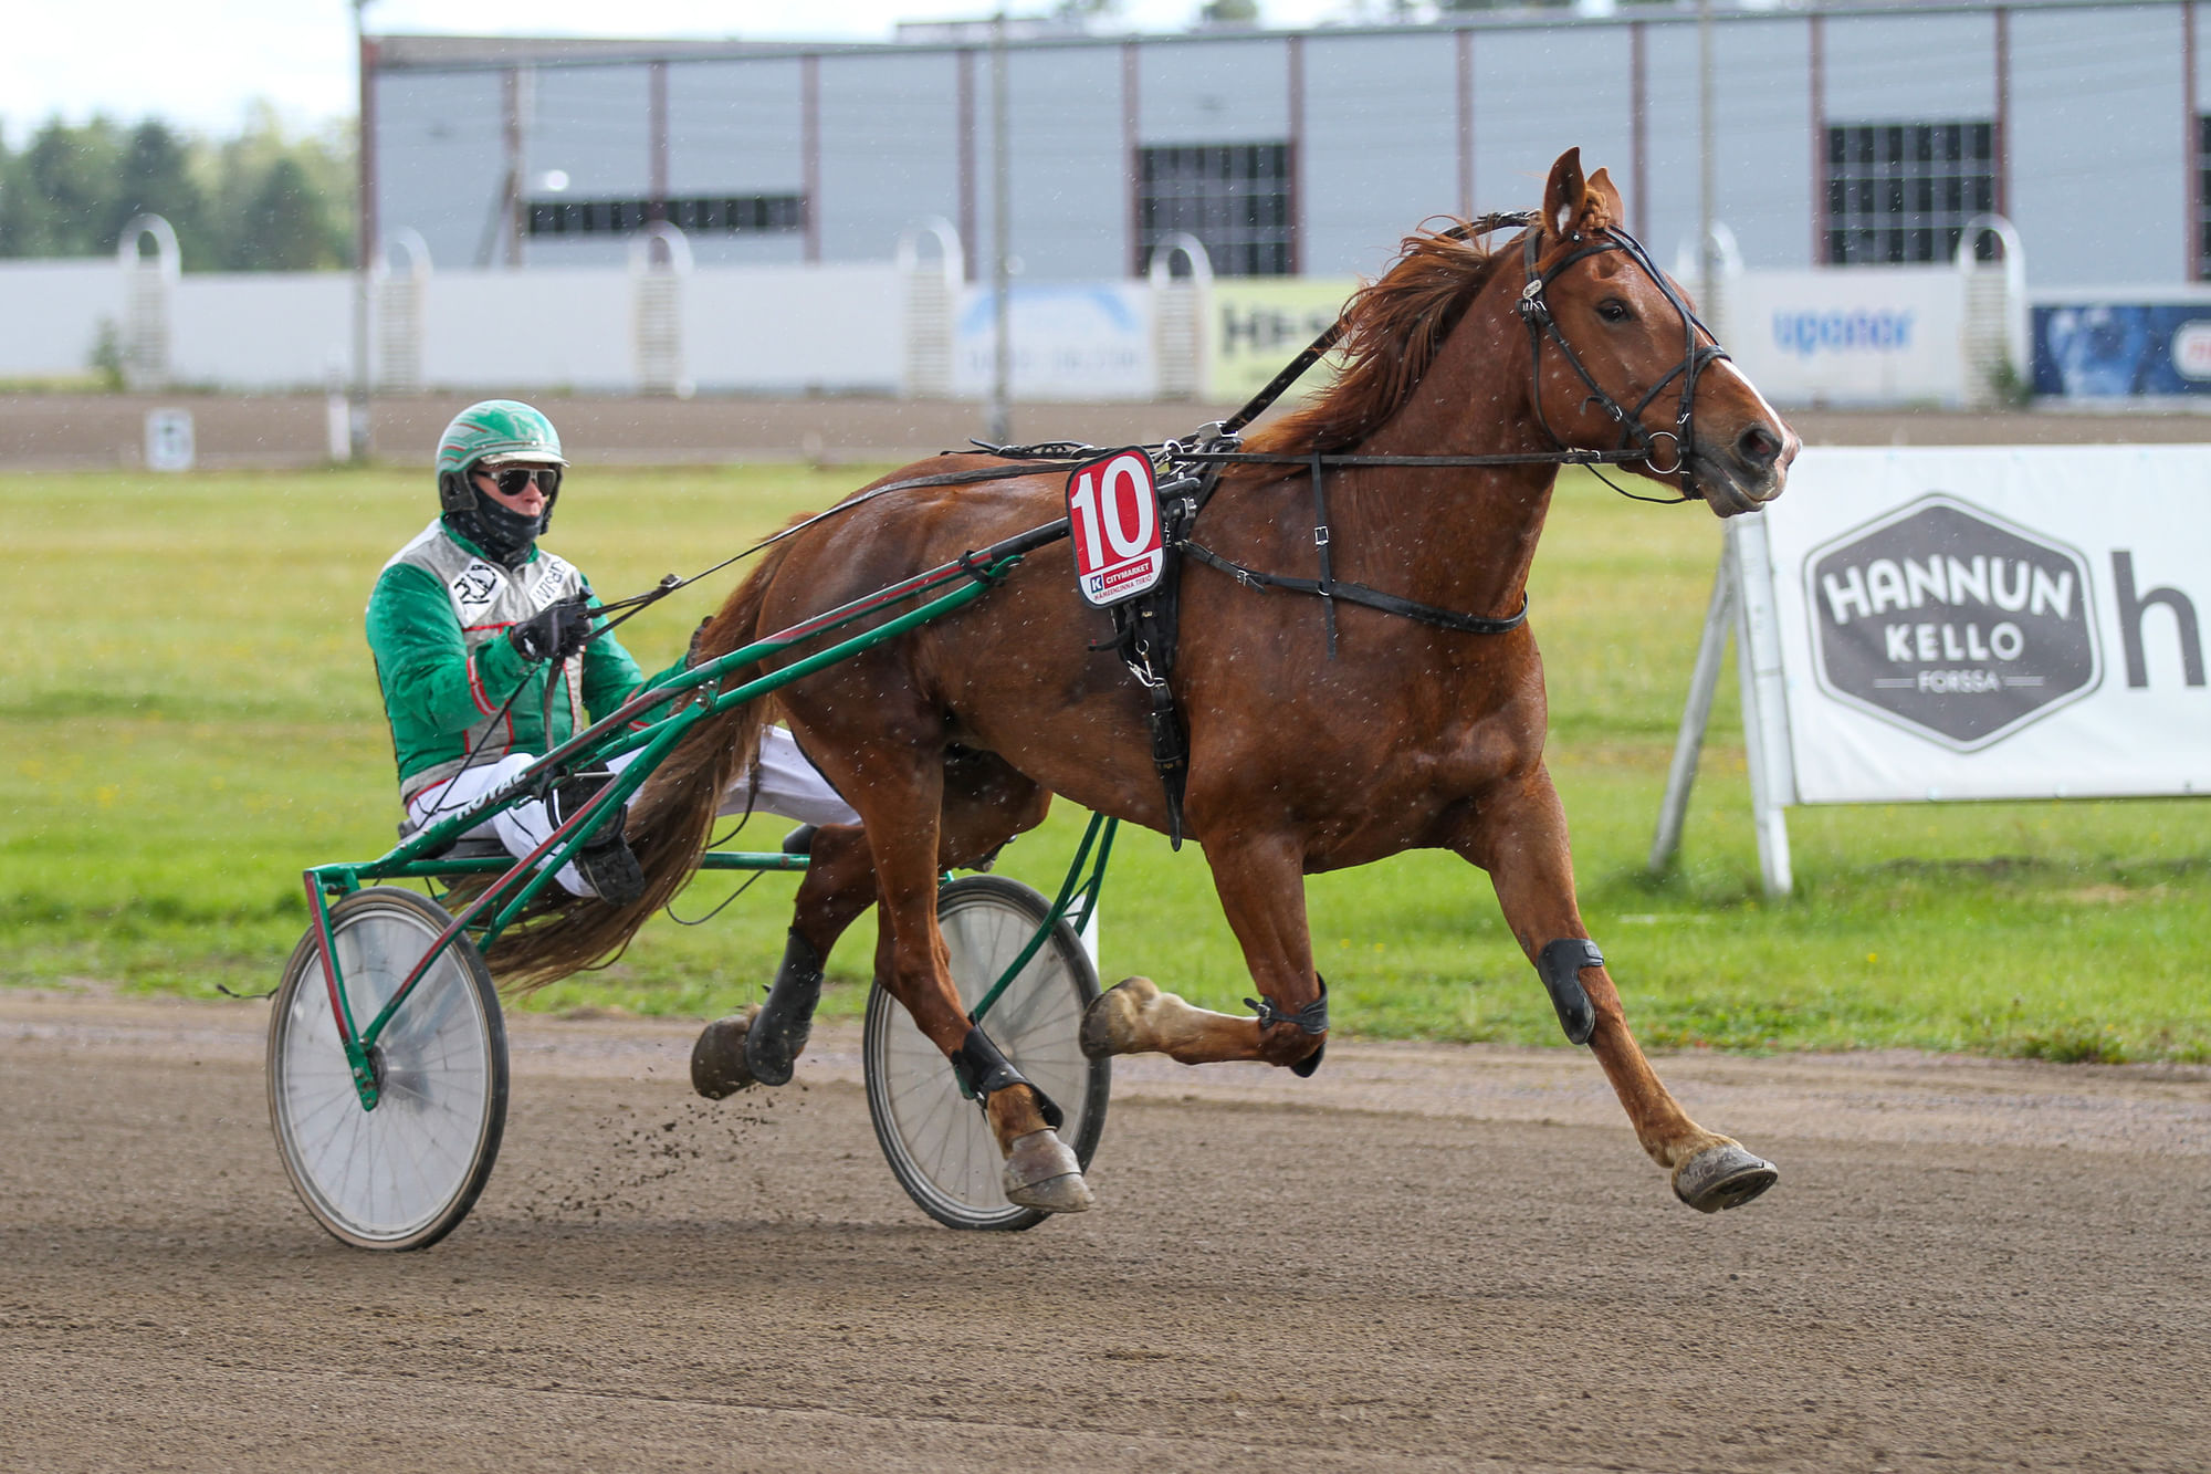
[[[157,252],[142,257],[142,239]],[[2023,381],[2027,303],[2010,226],[2001,259],[1720,274],[1707,319],[1782,405],[1977,405]],[[670,226],[628,266],[433,270],[411,230],[374,266],[371,383],[383,392],[836,392],[979,398],[991,390],[986,288],[960,237],[924,221],[858,266],[694,266]],[[1170,259],[1187,263],[1172,274]],[[1017,281],[1013,392],[1024,401],[1238,401],[1333,321],[1353,279],[1216,281],[1170,241],[1148,279]],[[352,367],[338,272],[179,274],[175,237],[133,221],[113,263],[0,263],[0,378],[62,378],[95,359],[133,387],[323,387]]]

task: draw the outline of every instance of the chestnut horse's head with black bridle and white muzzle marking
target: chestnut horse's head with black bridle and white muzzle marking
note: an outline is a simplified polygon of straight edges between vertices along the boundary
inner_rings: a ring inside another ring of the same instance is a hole
[[[1537,412],[1572,449],[1643,449],[1627,469],[1716,516],[1782,494],[1800,440],[1727,361],[1674,279],[1623,228],[1605,170],[1581,175],[1581,150],[1550,168],[1543,215],[1528,230],[1519,314],[1534,347]]]

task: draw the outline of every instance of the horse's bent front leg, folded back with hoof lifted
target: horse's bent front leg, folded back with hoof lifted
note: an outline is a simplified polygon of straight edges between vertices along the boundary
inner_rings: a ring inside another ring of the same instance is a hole
[[[1289,837],[1207,837],[1220,910],[1258,985],[1258,1018],[1183,1003],[1150,978],[1128,978],[1083,1014],[1083,1053],[1165,1053],[1183,1065],[1265,1060],[1300,1076],[1327,1045],[1327,985],[1304,925],[1304,859]]]

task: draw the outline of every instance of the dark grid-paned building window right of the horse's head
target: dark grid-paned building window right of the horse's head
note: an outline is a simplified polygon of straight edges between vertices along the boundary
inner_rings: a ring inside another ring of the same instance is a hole
[[[1948,261],[1966,221],[1997,208],[1997,126],[1828,124],[1826,263]],[[1983,235],[1974,255],[1990,259]]]

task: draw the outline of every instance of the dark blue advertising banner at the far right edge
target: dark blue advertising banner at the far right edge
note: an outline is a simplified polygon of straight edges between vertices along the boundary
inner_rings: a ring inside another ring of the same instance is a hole
[[[2065,398],[2211,394],[2211,301],[2034,308],[2034,392]]]

